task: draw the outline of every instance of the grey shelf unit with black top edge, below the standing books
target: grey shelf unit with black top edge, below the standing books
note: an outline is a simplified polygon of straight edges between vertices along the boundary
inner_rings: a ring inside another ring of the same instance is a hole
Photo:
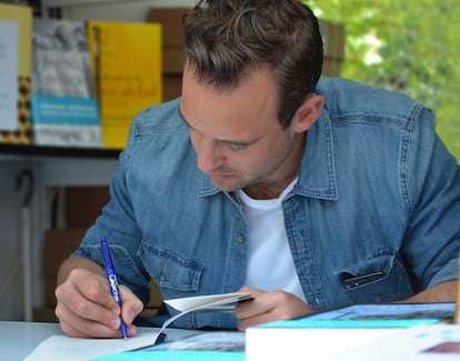
[[[3,287],[9,298],[0,308],[1,319],[31,321],[33,308],[42,303],[42,245],[51,220],[50,190],[109,184],[119,154],[118,149],[0,143],[0,259],[11,284]],[[22,310],[14,299],[22,300]]]

